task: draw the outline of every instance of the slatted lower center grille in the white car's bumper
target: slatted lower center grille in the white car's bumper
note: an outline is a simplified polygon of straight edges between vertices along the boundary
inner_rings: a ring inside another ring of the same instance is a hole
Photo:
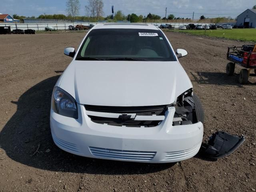
[[[89,147],[89,149],[94,156],[119,160],[150,161],[156,155],[156,152],[145,151],[115,150],[98,147]]]

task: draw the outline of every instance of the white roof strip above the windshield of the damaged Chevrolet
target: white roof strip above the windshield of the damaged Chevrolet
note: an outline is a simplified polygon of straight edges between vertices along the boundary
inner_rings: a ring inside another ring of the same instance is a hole
[[[105,23],[105,24],[97,24],[92,28],[95,29],[154,29],[160,30],[158,27],[152,24],[144,24],[144,23]]]

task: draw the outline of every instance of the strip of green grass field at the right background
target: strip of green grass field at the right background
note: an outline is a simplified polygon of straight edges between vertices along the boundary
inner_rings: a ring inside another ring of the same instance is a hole
[[[178,32],[190,33],[193,35],[205,35],[234,40],[256,42],[256,29],[217,29],[217,30],[175,30]]]

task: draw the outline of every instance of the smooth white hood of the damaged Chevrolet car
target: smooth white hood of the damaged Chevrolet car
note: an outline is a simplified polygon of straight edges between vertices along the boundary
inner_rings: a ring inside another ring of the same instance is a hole
[[[179,62],[73,60],[56,86],[79,104],[171,104],[192,84]]]

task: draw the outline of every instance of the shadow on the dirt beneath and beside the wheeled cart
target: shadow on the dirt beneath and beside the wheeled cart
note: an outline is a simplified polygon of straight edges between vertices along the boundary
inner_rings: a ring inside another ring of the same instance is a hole
[[[197,82],[198,84],[215,84],[222,86],[238,86],[243,87],[243,84],[238,82],[239,74],[233,74],[232,76],[228,76],[223,72],[190,72],[193,79],[191,82]],[[255,76],[255,74],[250,74],[251,76]],[[256,85],[256,82],[250,82],[250,77],[248,81],[248,85]]]

